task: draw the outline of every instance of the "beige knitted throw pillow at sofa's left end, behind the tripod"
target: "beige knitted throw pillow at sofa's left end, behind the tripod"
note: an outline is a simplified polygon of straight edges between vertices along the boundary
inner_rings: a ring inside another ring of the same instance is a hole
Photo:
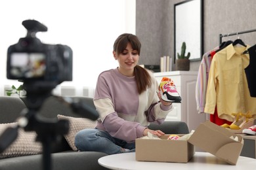
[[[15,126],[16,124],[17,123],[0,124],[0,134],[2,134],[7,127]],[[18,137],[0,154],[0,159],[41,154],[43,148],[40,142],[35,141],[36,136],[35,131],[24,131],[24,129],[19,128]]]

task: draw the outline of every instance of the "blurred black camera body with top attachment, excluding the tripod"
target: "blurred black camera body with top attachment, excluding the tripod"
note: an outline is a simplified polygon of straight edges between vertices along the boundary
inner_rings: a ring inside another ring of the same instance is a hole
[[[47,27],[36,20],[24,20],[22,25],[28,33],[8,48],[7,78],[53,86],[72,81],[72,49],[37,39],[36,33],[47,31]]]

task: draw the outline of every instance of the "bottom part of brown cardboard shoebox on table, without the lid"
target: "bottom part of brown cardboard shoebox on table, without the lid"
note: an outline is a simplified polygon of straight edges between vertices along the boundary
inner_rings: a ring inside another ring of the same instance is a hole
[[[169,135],[161,136],[163,140],[136,139],[136,160],[186,163],[194,156],[193,144],[188,141],[167,140],[168,137]]]

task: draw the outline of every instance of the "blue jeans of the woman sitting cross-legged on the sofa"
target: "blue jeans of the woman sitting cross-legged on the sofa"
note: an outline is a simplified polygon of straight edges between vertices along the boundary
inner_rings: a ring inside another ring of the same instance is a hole
[[[106,154],[135,152],[135,142],[127,143],[112,137],[100,129],[83,129],[75,135],[75,146],[80,151],[96,151]],[[123,148],[129,150],[125,151]]]

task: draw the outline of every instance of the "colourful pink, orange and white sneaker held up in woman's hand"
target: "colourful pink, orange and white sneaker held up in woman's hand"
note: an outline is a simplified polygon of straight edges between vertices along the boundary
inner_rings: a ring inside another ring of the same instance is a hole
[[[163,77],[161,79],[159,90],[161,99],[172,103],[181,103],[181,96],[177,92],[176,86],[171,78]]]

